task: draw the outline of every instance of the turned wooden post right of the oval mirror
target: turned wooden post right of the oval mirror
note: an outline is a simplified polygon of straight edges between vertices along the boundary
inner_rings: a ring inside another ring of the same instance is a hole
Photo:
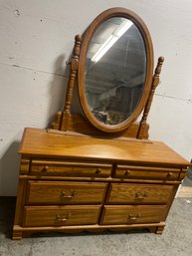
[[[143,131],[144,131],[144,128],[146,126],[146,120],[147,120],[147,117],[148,117],[148,113],[150,111],[150,107],[151,107],[151,104],[152,104],[152,99],[153,99],[153,96],[154,96],[155,89],[159,84],[159,75],[161,73],[161,68],[162,68],[163,62],[164,62],[164,58],[159,57],[158,58],[158,63],[157,63],[157,66],[156,66],[156,69],[155,69],[155,72],[154,72],[153,80],[152,80],[150,95],[149,95],[147,103],[145,105],[144,113],[143,113],[142,119],[140,121],[140,125],[139,125],[138,132],[137,132],[137,138],[139,138],[139,139],[143,138]]]

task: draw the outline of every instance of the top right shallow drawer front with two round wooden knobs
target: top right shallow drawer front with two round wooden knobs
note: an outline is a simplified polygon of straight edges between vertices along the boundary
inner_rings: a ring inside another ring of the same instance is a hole
[[[117,165],[114,171],[114,177],[120,178],[142,178],[142,179],[160,179],[177,180],[180,169],[151,167],[151,166],[133,166]]]

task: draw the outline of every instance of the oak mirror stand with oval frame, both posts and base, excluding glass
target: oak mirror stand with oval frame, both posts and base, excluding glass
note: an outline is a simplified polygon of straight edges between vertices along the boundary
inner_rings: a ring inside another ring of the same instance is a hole
[[[139,29],[144,43],[146,45],[146,54],[147,54],[147,74],[146,81],[144,86],[144,94],[142,95],[140,102],[130,116],[125,122],[118,124],[116,126],[106,126],[99,123],[94,115],[92,115],[90,108],[87,103],[85,95],[85,62],[86,54],[88,51],[89,43],[94,35],[96,28],[106,19],[111,17],[125,17],[134,22],[134,24]],[[156,87],[159,84],[159,75],[161,72],[162,64],[164,62],[163,57],[158,58],[158,63],[152,76],[153,71],[153,50],[152,42],[150,39],[149,32],[142,22],[142,20],[133,12],[128,11],[124,8],[111,8],[96,17],[91,26],[83,35],[83,46],[82,46],[82,37],[77,35],[75,37],[75,46],[72,54],[71,60],[68,62],[70,65],[70,76],[67,86],[67,94],[65,101],[65,108],[63,112],[58,112],[54,122],[52,123],[52,128],[48,128],[48,132],[62,133],[66,134],[69,132],[76,132],[81,135],[96,135],[102,137],[132,137],[138,139],[147,139],[149,136],[148,129],[149,125],[147,122],[147,117],[150,111],[152,104],[153,96]],[[80,58],[81,56],[81,58]],[[81,62],[79,62],[81,59]],[[79,73],[78,73],[79,71]],[[78,73],[78,87],[79,87],[79,98],[83,108],[83,111],[87,117],[85,118],[82,115],[72,114],[71,105],[74,92],[74,86],[76,84]],[[142,117],[139,123],[133,123],[139,114],[142,112]]]

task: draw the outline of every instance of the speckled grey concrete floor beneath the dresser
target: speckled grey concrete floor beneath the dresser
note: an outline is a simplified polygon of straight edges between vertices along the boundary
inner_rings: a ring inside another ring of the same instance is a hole
[[[143,232],[47,234],[10,239],[15,199],[0,198],[0,256],[191,256],[192,198],[174,200],[162,235]]]

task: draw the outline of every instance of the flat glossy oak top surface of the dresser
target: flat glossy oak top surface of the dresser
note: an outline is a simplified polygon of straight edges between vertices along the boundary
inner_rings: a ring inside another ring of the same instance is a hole
[[[163,142],[60,134],[25,128],[19,153],[35,157],[129,161],[186,167],[190,163]]]

